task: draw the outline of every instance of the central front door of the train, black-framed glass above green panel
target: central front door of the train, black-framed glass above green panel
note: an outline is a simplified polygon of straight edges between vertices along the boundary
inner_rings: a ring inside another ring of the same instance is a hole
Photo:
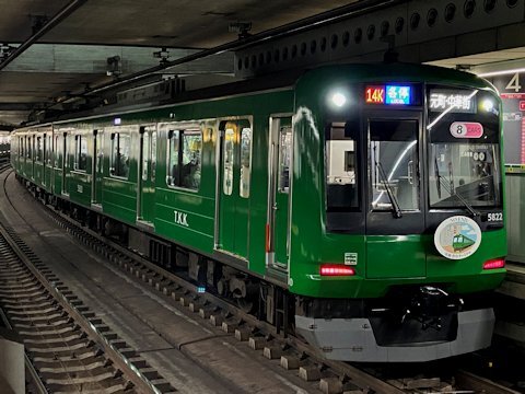
[[[424,230],[421,124],[421,114],[408,111],[371,112],[365,117],[369,139],[369,278],[421,277],[427,274],[424,247],[419,236],[404,243],[396,242],[395,236],[385,236],[417,235]],[[406,258],[407,255],[416,258]]]

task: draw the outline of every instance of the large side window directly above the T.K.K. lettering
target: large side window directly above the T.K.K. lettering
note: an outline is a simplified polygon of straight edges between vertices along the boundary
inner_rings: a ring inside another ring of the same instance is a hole
[[[155,143],[156,144],[156,143]],[[168,134],[167,185],[197,190],[200,186],[202,132],[199,129]]]

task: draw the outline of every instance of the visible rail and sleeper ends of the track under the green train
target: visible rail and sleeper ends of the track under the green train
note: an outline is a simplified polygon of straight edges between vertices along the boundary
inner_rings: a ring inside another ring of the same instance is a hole
[[[452,381],[439,378],[396,379],[385,381],[355,366],[323,359],[316,350],[293,336],[277,333],[269,324],[258,321],[212,293],[200,292],[195,285],[158,267],[117,243],[82,228],[68,216],[46,207],[46,212],[68,233],[90,246],[121,271],[156,289],[163,297],[175,300],[186,312],[199,315],[208,324],[244,341],[270,362],[295,370],[308,382],[318,382],[324,393],[516,393],[487,380],[463,379],[458,372]],[[206,324],[203,322],[203,324]],[[459,384],[455,384],[459,383]],[[471,385],[471,386],[470,386]]]

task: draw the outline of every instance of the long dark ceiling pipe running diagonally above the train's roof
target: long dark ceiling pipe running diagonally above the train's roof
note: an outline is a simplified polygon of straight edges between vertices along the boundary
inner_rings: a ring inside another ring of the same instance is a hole
[[[171,67],[183,65],[183,63],[194,61],[194,60],[198,60],[198,59],[202,59],[202,58],[206,58],[208,56],[219,55],[219,54],[222,54],[226,50],[241,49],[241,48],[249,47],[249,46],[256,45],[260,42],[276,39],[276,38],[283,37],[283,36],[287,36],[287,35],[291,35],[291,34],[294,34],[294,33],[299,33],[299,32],[302,32],[302,31],[307,31],[307,30],[313,28],[313,27],[318,27],[318,26],[322,26],[322,25],[325,25],[325,24],[328,24],[328,23],[331,23],[331,22],[336,22],[336,21],[339,21],[341,19],[346,19],[346,18],[349,18],[349,16],[357,16],[357,15],[360,15],[360,14],[363,14],[363,13],[375,11],[377,9],[393,7],[393,5],[397,5],[397,4],[405,3],[405,2],[407,2],[407,0],[387,0],[387,1],[385,1],[385,0],[383,0],[383,1],[382,0],[360,0],[360,1],[357,1],[352,4],[342,5],[342,7],[339,7],[339,8],[335,9],[335,10],[326,11],[326,12],[323,12],[323,13],[317,14],[317,15],[313,15],[313,16],[302,19],[300,21],[291,22],[291,23],[288,23],[285,25],[275,27],[275,28],[270,28],[270,30],[267,30],[267,31],[258,33],[258,34],[249,35],[249,36],[247,36],[245,38],[242,38],[240,40],[222,44],[222,45],[219,45],[217,47],[213,47],[213,48],[210,48],[210,49],[205,49],[205,50],[198,51],[198,53],[192,54],[192,55],[185,56],[185,57],[176,59],[176,60],[165,61],[162,65],[151,67],[149,69],[142,70],[142,71],[139,71],[139,72],[135,72],[135,73],[129,74],[129,76],[119,77],[117,81],[112,81],[112,82],[104,83],[104,84],[98,85],[96,88],[90,89],[88,92],[84,91],[84,95],[95,94],[95,93],[100,93],[100,92],[103,92],[103,91],[106,91],[106,90],[109,90],[109,89],[115,89],[119,85],[140,80],[144,77],[148,77],[152,73],[168,69]]]

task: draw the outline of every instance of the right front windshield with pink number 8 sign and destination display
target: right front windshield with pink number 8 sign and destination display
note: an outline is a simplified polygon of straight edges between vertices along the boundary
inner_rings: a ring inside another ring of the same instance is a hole
[[[430,208],[501,206],[497,97],[434,85],[427,99]]]

